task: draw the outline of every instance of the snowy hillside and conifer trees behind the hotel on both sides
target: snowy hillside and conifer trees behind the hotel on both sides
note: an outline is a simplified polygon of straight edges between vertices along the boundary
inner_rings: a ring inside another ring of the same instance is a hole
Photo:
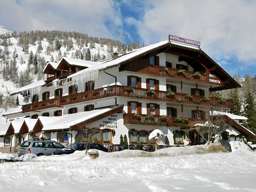
[[[6,108],[19,104],[18,97],[8,95],[10,89],[42,79],[47,61],[58,62],[62,57],[99,61],[111,57],[113,52],[122,53],[122,44],[118,40],[92,37],[75,31],[24,31],[17,34],[0,26],[1,108],[6,111]],[[132,42],[127,45],[127,51],[143,46],[139,42]],[[237,74],[234,78],[242,85],[241,88],[216,92],[214,95],[233,99],[234,108],[228,112],[246,116],[248,121],[244,122],[244,126],[256,133],[256,77],[240,77]]]

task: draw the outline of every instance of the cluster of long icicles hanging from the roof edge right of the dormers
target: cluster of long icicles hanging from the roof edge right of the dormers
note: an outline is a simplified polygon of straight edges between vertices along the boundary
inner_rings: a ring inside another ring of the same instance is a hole
[[[88,72],[79,73],[72,77],[73,84],[84,84],[88,81],[95,81],[98,78],[99,70],[89,70]]]

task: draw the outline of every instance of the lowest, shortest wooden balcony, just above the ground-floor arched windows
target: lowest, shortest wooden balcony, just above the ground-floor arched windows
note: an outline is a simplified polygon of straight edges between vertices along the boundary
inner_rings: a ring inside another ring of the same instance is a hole
[[[177,122],[176,117],[168,116],[162,119],[160,115],[154,115],[153,118],[148,119],[147,115],[140,114],[140,118],[135,117],[132,113],[124,114],[124,124],[131,125],[158,125],[166,127],[186,127],[189,123],[195,121],[193,118],[186,118],[188,121]]]

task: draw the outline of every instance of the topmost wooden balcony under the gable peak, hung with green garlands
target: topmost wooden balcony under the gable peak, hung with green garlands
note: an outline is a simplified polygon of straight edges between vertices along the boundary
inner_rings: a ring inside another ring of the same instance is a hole
[[[198,83],[216,84],[218,86],[224,86],[224,83],[218,77],[214,77],[214,79],[210,81],[209,74],[207,76],[207,74],[191,72],[188,70],[179,70],[177,68],[150,65],[136,72],[140,72],[142,74],[150,74],[152,76],[161,76],[168,78],[172,77],[175,79],[182,79],[186,81],[195,81]]]

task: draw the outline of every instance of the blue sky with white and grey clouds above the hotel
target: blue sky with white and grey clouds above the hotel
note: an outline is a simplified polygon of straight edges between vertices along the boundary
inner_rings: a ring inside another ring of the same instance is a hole
[[[231,76],[244,77],[256,74],[255,10],[252,0],[1,0],[0,26],[77,31],[125,44],[181,36],[200,41]]]

